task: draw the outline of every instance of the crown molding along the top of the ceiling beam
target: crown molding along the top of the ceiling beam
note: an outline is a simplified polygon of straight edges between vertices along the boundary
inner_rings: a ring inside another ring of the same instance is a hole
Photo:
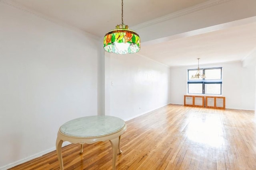
[[[226,3],[226,2],[229,2],[229,1],[233,1],[233,0],[209,0],[207,2],[204,2],[204,3],[201,3],[201,4],[198,4],[198,5],[186,8],[184,10],[179,10],[177,12],[173,12],[173,13],[168,14],[166,16],[162,16],[162,17],[156,18],[154,20],[146,21],[144,23],[140,23],[140,24],[135,25],[135,26],[133,26],[131,28],[136,30],[136,29],[148,27],[148,26],[154,25],[156,23],[168,21],[168,20],[171,20],[173,18],[178,18],[180,16],[184,16],[184,15],[187,15],[187,14],[190,14],[190,13],[193,13],[193,12],[204,10],[206,8],[210,8],[212,6],[223,4],[223,3]]]

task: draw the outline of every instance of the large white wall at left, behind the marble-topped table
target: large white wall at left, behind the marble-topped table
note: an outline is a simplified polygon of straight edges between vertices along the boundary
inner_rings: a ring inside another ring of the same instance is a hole
[[[0,169],[54,150],[60,125],[97,114],[97,43],[0,3]]]

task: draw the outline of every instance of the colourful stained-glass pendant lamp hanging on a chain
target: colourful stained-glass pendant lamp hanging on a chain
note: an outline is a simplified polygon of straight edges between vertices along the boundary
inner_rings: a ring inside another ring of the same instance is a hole
[[[122,0],[122,23],[104,37],[103,48],[109,53],[127,54],[140,51],[140,36],[124,24],[123,5]]]

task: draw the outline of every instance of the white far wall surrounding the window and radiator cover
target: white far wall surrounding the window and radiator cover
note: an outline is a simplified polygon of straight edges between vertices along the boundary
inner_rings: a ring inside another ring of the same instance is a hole
[[[240,62],[200,65],[200,68],[222,67],[222,96],[226,97],[227,109],[254,110],[255,107],[255,67],[243,68]],[[184,104],[187,93],[187,69],[170,68],[170,103]],[[207,75],[206,75],[207,76]]]

